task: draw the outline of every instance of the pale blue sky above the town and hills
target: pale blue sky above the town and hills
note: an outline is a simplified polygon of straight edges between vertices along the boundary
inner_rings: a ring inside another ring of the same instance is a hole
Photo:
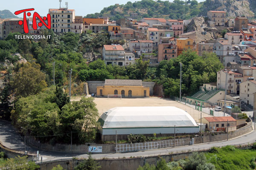
[[[12,13],[21,9],[35,8],[41,16],[48,14],[49,8],[59,8],[59,0],[0,0],[0,10],[8,9]],[[94,14],[100,12],[104,7],[111,5],[126,4],[128,1],[132,3],[136,0],[62,0],[61,7],[65,6],[65,2],[68,2],[69,9],[75,9],[75,14],[78,16],[86,16],[87,14]],[[138,1],[138,0],[137,0]],[[173,0],[169,0],[172,2]],[[184,0],[185,1],[185,0]],[[202,2],[205,0],[197,0]],[[19,14],[18,17],[23,17]]]

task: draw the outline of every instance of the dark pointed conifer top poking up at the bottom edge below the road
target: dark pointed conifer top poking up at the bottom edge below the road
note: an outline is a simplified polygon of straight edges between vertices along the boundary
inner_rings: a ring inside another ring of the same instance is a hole
[[[79,165],[75,167],[74,170],[99,170],[101,166],[99,166],[99,163],[97,163],[89,154],[88,159],[81,162]]]

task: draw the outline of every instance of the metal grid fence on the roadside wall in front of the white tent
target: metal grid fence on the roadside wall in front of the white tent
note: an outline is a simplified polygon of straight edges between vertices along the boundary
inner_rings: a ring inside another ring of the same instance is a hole
[[[175,146],[183,146],[183,139],[175,139]],[[132,152],[138,150],[150,150],[164,147],[174,147],[174,139],[163,140],[157,142],[145,142],[145,143],[134,143],[134,144],[117,144],[116,152]]]

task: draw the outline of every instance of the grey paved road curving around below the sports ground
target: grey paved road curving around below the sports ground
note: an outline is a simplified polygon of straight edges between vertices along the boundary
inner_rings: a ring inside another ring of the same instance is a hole
[[[3,122],[0,120],[0,141],[1,143],[14,150],[24,150],[24,142],[23,139],[20,138],[18,133],[16,133],[14,127],[9,122]],[[228,141],[220,141],[220,142],[211,142],[211,143],[203,143],[203,144],[195,144],[195,145],[186,145],[182,147],[172,147],[172,148],[163,148],[156,150],[145,150],[139,152],[131,152],[131,153],[108,153],[108,154],[93,154],[93,158],[95,159],[118,159],[118,158],[130,158],[131,156],[135,157],[143,157],[143,156],[158,156],[165,155],[168,153],[176,153],[185,150],[200,150],[207,149],[209,147],[221,147],[225,145],[239,145],[244,143],[252,143],[256,142],[256,131],[253,130],[251,133],[248,133],[244,136],[238,137],[236,139],[230,139]],[[37,149],[33,147],[26,146],[26,150],[31,152],[36,152]],[[55,152],[55,151],[45,151],[39,150],[40,156],[44,161],[54,161],[59,159],[72,159],[73,157],[77,158],[87,158],[87,154],[79,154],[79,153],[63,153],[63,152]]]

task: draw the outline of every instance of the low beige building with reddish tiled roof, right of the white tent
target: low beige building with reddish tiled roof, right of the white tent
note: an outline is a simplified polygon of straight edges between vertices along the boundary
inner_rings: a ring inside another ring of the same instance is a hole
[[[232,129],[231,131],[236,130],[236,119],[231,116],[203,117],[202,123],[206,124],[205,129],[209,131],[225,131],[227,127],[235,127],[229,128],[229,131],[230,129]]]

